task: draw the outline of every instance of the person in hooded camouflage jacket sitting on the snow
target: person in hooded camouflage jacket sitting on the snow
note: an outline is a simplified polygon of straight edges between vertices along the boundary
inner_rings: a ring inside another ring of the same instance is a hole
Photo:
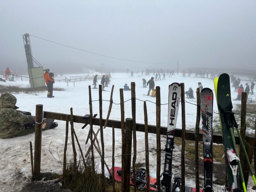
[[[27,135],[35,131],[35,117],[24,115],[17,110],[17,99],[10,93],[0,96],[0,138],[12,138]]]

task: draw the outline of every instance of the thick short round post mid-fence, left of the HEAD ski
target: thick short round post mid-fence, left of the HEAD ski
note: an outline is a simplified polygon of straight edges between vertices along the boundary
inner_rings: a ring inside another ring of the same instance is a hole
[[[124,164],[122,167],[122,192],[130,192],[132,158],[132,119],[125,119]],[[123,156],[122,156],[123,157]],[[124,177],[124,179],[123,179]]]

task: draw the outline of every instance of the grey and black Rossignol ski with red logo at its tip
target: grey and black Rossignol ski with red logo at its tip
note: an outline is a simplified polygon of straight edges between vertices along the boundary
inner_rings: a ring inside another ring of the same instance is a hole
[[[203,152],[204,152],[204,192],[212,192],[212,105],[213,94],[209,88],[200,92]]]

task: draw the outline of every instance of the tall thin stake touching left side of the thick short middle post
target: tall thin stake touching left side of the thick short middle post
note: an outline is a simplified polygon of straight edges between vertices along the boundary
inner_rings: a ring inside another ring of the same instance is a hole
[[[125,149],[125,125],[124,125],[124,90],[120,91],[120,109],[121,109],[121,132],[122,132],[122,168],[125,166],[124,149]],[[122,189],[124,184],[124,175],[122,174]]]

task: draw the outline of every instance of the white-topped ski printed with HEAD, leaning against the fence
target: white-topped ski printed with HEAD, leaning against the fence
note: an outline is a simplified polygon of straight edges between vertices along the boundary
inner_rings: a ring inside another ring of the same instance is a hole
[[[165,144],[164,171],[161,180],[162,192],[168,192],[172,180],[172,151],[174,148],[174,135],[176,128],[177,115],[180,105],[181,87],[179,83],[172,83],[169,86],[169,104],[168,104],[168,123],[167,140]]]

